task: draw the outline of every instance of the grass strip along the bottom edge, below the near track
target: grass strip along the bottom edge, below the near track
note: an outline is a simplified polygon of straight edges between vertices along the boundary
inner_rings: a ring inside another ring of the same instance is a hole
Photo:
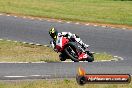
[[[75,79],[0,82],[0,88],[132,88],[130,84],[85,84],[80,86]]]

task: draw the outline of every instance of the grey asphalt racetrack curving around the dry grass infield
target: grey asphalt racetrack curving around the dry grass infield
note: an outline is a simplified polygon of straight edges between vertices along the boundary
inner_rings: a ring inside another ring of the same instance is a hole
[[[132,74],[132,30],[0,15],[0,38],[47,45],[48,30],[78,34],[93,52],[106,52],[124,60],[81,63],[0,63],[0,79],[75,77],[77,68],[87,73]]]

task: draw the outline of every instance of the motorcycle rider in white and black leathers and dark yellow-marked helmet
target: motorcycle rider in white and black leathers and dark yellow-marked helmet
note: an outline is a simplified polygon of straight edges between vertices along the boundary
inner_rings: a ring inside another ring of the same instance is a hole
[[[50,34],[51,38],[53,39],[53,41],[51,41],[50,43],[51,43],[52,48],[54,50],[55,50],[56,40],[60,36],[67,37],[69,39],[72,39],[73,41],[77,41],[83,47],[84,50],[86,48],[88,48],[88,46],[89,46],[89,45],[83,43],[78,35],[72,34],[71,32],[61,32],[61,33],[59,33],[55,28],[51,28],[49,30],[49,34]]]

